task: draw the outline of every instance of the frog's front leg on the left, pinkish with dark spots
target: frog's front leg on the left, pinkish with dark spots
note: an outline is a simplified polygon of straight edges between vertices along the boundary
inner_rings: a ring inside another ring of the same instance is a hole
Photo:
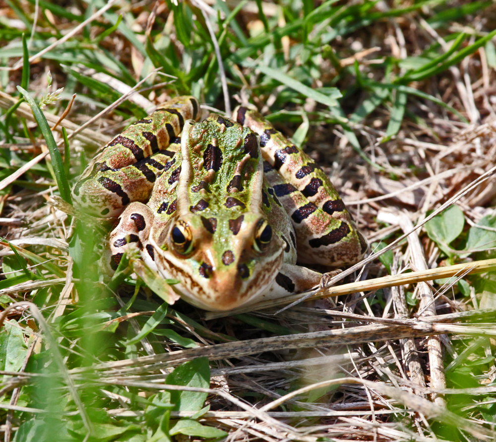
[[[126,207],[119,218],[118,225],[110,233],[110,249],[107,250],[104,257],[104,264],[108,271],[117,269],[124,252],[129,250],[130,244],[135,244],[138,247],[146,264],[152,269],[156,267],[154,250],[148,242],[152,223],[153,213],[148,206],[134,202]]]

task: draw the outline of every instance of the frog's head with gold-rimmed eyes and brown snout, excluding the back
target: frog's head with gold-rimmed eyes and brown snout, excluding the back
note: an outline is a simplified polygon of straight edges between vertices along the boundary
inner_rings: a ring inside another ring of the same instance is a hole
[[[285,244],[263,216],[224,215],[191,214],[150,235],[163,276],[179,280],[183,297],[206,310],[252,302],[283,261]]]

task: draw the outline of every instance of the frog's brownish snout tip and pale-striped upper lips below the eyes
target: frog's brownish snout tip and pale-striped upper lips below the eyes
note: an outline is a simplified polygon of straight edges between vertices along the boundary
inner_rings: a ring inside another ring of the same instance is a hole
[[[271,286],[283,262],[283,250],[271,259],[265,260],[253,269],[253,275],[242,278],[242,273],[211,269],[206,276],[193,278],[191,267],[185,261],[175,260],[173,256],[160,253],[156,257],[162,261],[159,270],[164,278],[177,279],[175,287],[187,302],[204,310],[226,311],[258,300]]]

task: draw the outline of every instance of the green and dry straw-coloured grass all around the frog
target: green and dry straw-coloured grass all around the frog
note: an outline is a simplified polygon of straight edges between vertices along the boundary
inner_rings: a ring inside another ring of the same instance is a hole
[[[0,1],[4,440],[494,439],[494,3],[212,3]],[[359,293],[206,319],[103,278],[69,189],[179,94],[306,146],[372,244]]]

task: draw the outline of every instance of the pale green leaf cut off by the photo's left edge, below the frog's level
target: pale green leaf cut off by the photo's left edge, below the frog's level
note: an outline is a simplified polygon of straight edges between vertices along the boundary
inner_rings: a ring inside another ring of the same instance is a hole
[[[0,370],[19,371],[26,355],[27,348],[22,330],[17,322],[11,319],[0,332]],[[1,376],[2,381],[5,377],[6,375]]]

